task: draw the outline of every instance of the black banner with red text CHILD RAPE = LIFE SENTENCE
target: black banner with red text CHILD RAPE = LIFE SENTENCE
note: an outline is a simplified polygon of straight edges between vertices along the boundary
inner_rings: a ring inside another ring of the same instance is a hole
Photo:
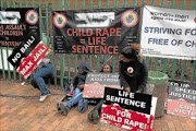
[[[139,8],[53,11],[56,53],[118,55],[138,43]]]

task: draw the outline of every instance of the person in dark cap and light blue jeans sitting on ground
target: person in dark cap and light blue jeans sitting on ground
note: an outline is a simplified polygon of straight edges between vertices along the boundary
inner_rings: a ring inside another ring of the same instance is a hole
[[[78,73],[75,75],[75,78],[72,80],[70,90],[73,91],[73,96],[70,100],[65,103],[58,103],[57,109],[59,112],[62,112],[63,115],[68,115],[70,109],[73,105],[77,104],[78,100],[83,96],[83,90],[85,85],[86,75],[88,72],[91,72],[85,62],[81,63],[77,67]]]

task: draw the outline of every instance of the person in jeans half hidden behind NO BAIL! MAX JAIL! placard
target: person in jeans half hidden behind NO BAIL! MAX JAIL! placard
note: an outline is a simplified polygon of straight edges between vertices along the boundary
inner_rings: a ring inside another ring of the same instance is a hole
[[[33,75],[30,84],[41,92],[39,102],[44,102],[50,91],[46,87],[44,78],[50,78],[53,75],[54,68],[52,67],[50,59],[45,58],[38,66],[37,71]]]

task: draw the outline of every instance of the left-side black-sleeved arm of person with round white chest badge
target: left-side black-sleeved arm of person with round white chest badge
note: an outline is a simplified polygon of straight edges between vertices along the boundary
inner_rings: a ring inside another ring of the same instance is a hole
[[[121,69],[121,62],[119,62],[119,79],[120,79],[120,84],[121,86],[123,86],[123,90],[125,90],[126,92],[131,92],[130,85],[127,84],[126,80],[124,79],[124,75],[122,74],[122,70]]]

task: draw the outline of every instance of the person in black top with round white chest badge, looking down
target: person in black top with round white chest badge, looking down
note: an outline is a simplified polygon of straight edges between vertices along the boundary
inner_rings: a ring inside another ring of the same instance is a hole
[[[120,84],[126,92],[143,93],[147,84],[148,70],[138,51],[126,46],[119,62]]]

